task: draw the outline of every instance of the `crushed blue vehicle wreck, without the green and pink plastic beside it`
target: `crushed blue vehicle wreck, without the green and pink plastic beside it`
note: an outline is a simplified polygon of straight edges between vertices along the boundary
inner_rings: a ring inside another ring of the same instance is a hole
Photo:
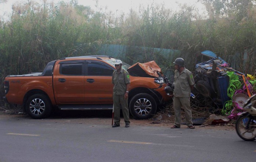
[[[230,77],[232,71],[237,76],[244,75],[229,67],[229,64],[212,51],[203,51],[196,54],[195,91],[197,98],[204,98],[208,105],[223,108],[231,100],[228,96]]]

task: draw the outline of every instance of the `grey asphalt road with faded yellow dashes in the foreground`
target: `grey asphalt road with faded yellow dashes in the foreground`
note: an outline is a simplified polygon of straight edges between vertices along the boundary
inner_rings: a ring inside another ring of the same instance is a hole
[[[67,120],[67,119],[59,119]],[[234,130],[170,129],[0,116],[0,162],[255,162]]]

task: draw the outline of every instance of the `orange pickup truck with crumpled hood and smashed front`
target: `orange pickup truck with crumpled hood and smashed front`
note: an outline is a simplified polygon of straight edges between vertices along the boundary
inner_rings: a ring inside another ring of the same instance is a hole
[[[46,118],[52,108],[60,110],[108,110],[113,108],[111,56],[78,56],[51,61],[43,72],[7,76],[4,80],[7,103],[23,105],[35,119]],[[132,116],[146,119],[157,107],[171,100],[170,83],[154,62],[123,62],[130,73],[128,105]]]

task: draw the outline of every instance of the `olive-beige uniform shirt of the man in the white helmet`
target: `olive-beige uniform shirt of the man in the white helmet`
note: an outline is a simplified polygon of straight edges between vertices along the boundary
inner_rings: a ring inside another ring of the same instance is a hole
[[[128,71],[121,69],[119,73],[114,71],[112,76],[112,84],[114,84],[113,94],[124,95],[126,92],[126,84],[130,83],[130,76]]]

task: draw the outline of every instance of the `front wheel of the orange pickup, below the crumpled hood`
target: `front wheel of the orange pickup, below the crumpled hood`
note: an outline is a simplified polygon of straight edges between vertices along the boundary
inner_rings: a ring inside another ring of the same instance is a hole
[[[139,93],[132,97],[129,110],[135,119],[147,119],[156,113],[157,104],[149,94]]]

